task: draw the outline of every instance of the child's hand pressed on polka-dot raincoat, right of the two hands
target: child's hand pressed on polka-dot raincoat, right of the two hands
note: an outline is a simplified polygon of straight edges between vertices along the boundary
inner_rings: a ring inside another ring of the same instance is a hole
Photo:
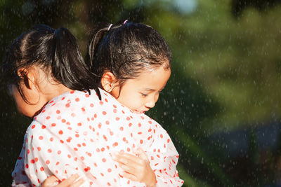
[[[133,152],[136,155],[119,152],[112,156],[113,160],[119,162],[119,167],[124,169],[122,176],[145,183],[146,186],[156,186],[156,177],[150,167],[148,156],[141,148]]]

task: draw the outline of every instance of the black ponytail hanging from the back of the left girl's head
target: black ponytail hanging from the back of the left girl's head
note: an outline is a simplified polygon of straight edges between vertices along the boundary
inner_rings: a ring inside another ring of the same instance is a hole
[[[53,76],[72,90],[88,90],[90,93],[89,89],[95,89],[101,99],[98,87],[93,85],[96,75],[86,66],[74,36],[62,27],[55,30],[54,39]]]

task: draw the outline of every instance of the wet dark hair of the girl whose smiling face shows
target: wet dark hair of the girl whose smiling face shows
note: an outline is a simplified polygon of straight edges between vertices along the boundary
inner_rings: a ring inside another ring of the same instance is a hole
[[[171,66],[171,50],[162,36],[152,27],[141,23],[121,25],[98,24],[91,32],[85,57],[100,83],[105,70],[124,83],[144,70]],[[166,63],[167,62],[167,63]]]

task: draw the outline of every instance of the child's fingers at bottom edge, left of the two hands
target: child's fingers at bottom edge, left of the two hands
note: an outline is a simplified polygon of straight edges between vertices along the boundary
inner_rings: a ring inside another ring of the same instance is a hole
[[[79,187],[84,183],[84,179],[77,179],[79,179],[79,175],[73,174],[72,176],[70,176],[70,178],[65,179],[64,181],[59,183],[60,180],[58,178],[56,178],[55,176],[50,176],[44,181],[44,183],[42,183],[41,187]]]

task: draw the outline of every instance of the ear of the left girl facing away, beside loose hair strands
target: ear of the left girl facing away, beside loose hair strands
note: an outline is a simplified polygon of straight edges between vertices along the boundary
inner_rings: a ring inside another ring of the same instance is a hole
[[[36,88],[36,86],[34,85],[36,83],[35,69],[26,69],[22,67],[18,69],[17,74],[28,89],[32,90],[33,88]]]

